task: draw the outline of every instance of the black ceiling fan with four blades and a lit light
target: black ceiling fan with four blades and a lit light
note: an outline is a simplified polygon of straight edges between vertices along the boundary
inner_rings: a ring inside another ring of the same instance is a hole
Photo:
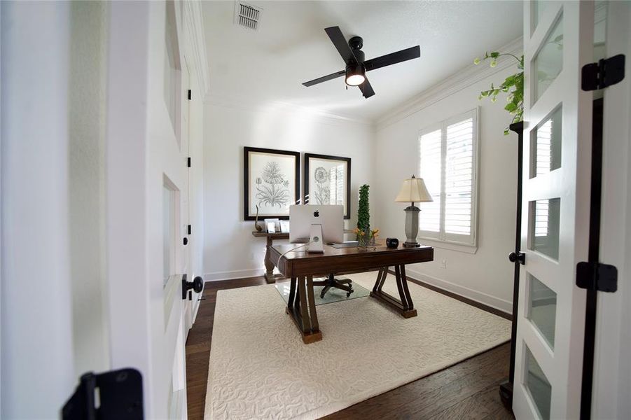
[[[336,71],[328,76],[323,76],[314,80],[303,83],[305,86],[313,86],[318,83],[326,82],[327,80],[333,80],[341,76],[346,76],[346,84],[349,86],[358,86],[361,90],[363,97],[369,98],[375,94],[373,87],[370,85],[368,78],[366,78],[366,71],[380,69],[381,67],[389,66],[391,64],[397,64],[407,61],[408,59],[414,59],[421,56],[421,48],[419,45],[406,48],[405,50],[391,52],[391,54],[382,55],[364,61],[364,55],[361,48],[363,47],[363,39],[360,36],[353,36],[346,42],[344,34],[340,30],[340,27],[325,28],[324,31],[331,38],[331,42],[335,45],[342,59],[346,64],[344,70]]]

